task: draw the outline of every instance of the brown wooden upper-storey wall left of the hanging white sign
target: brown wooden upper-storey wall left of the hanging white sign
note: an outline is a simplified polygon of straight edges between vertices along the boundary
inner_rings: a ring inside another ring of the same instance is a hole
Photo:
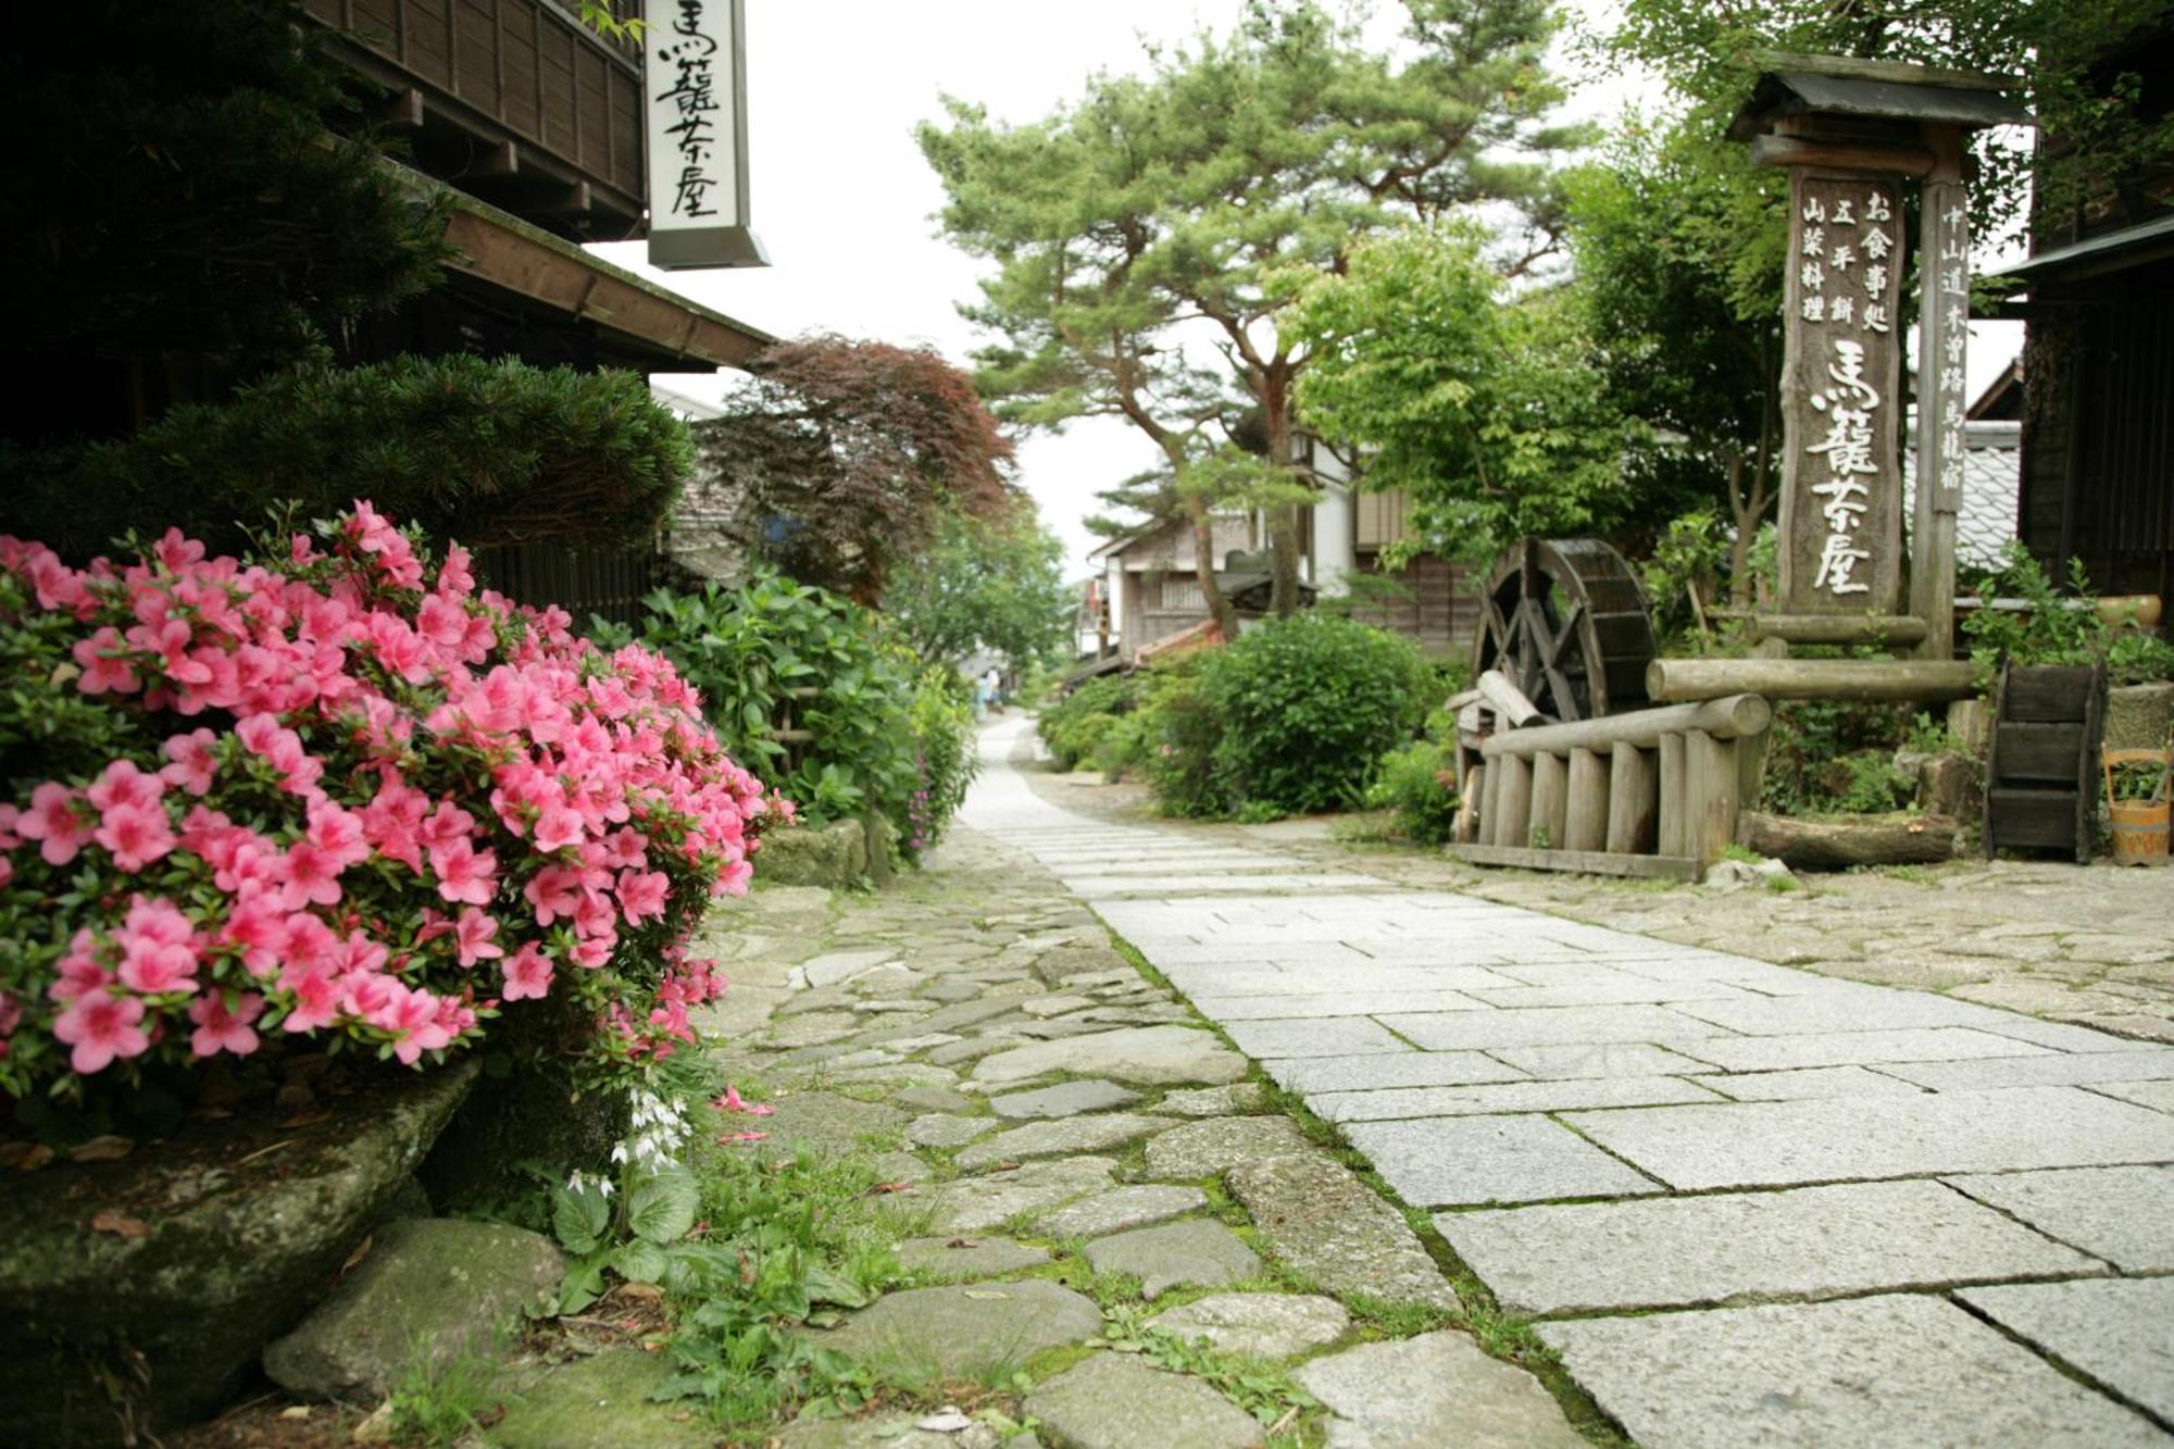
[[[641,65],[552,0],[304,0],[417,170],[565,237],[641,235]],[[641,7],[622,7],[639,15]]]

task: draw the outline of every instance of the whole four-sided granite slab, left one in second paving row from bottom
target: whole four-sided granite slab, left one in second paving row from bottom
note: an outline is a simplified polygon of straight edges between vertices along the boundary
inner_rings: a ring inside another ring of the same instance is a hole
[[[2104,1273],[1937,1181],[1444,1212],[1435,1225],[1524,1314]]]

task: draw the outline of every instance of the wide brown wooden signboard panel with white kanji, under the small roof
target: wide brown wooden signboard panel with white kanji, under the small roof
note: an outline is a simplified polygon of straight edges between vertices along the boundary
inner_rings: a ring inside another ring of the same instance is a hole
[[[1783,609],[1885,614],[1902,583],[1902,196],[1791,170],[1789,202]]]

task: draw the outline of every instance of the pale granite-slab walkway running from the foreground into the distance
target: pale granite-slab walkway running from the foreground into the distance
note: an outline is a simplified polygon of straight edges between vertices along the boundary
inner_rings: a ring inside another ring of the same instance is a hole
[[[1009,768],[1024,731],[963,820],[1437,1210],[1639,1442],[2174,1442],[2174,1049],[1096,822]]]

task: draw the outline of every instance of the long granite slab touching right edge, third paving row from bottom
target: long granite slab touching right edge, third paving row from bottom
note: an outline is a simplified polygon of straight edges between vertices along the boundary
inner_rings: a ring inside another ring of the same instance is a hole
[[[2174,1162],[2174,1118],[2078,1088],[1626,1107],[1563,1120],[1683,1190]],[[1413,1125],[1352,1131],[1391,1127]]]

